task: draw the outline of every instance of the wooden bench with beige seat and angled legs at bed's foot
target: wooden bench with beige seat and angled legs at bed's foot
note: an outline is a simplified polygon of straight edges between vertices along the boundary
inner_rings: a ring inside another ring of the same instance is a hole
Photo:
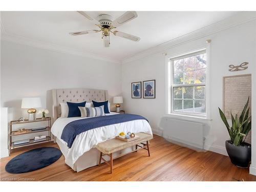
[[[144,148],[145,150],[147,150],[148,152],[148,156],[150,156],[150,142],[149,140],[153,139],[153,136],[147,133],[136,133],[136,135],[140,136],[139,139],[130,141],[130,142],[126,142],[126,141],[122,141],[120,139],[110,139],[110,140],[106,140],[104,142],[98,143],[96,145],[96,148],[100,151],[100,157],[99,157],[99,166],[101,163],[101,160],[103,160],[106,164],[108,164],[110,166],[110,173],[113,173],[113,160],[117,159],[119,157],[122,157],[124,155],[133,153],[133,152],[137,152],[139,150],[141,150],[142,148]],[[143,143],[146,142],[146,143]],[[142,144],[142,146],[140,145]],[[129,153],[125,153],[122,154],[120,156],[117,156],[113,159],[113,153],[123,150],[124,148],[127,147],[132,147],[132,146],[136,146],[136,150],[133,150]],[[106,161],[103,156],[109,156],[110,160]]]

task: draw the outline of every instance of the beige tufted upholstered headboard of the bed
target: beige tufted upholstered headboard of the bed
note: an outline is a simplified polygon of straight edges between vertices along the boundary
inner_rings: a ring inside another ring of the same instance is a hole
[[[53,122],[60,117],[61,108],[60,103],[62,102],[92,102],[108,100],[108,91],[106,90],[96,90],[96,89],[53,89],[50,90],[52,95],[52,116]]]

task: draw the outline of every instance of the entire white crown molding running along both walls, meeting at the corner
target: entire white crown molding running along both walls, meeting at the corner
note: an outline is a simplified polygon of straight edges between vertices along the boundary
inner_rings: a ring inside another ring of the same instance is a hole
[[[36,47],[36,48],[40,48],[40,49],[47,49],[47,50],[56,51],[56,52],[60,52],[60,53],[68,53],[68,54],[73,54],[73,55],[94,58],[94,59],[98,59],[98,60],[104,60],[104,61],[108,61],[108,62],[128,63],[128,62],[131,62],[131,61],[134,61],[134,60],[137,60],[137,59],[170,49],[174,46],[184,44],[185,42],[203,38],[208,35],[218,33],[220,31],[250,22],[251,20],[255,20],[255,19],[256,19],[256,12],[253,12],[253,11],[252,12],[240,12],[240,13],[238,13],[234,16],[228,17],[220,22],[217,22],[215,24],[206,26],[199,30],[187,33],[185,35],[174,38],[172,40],[166,41],[163,44],[152,47],[150,49],[146,49],[146,50],[136,53],[132,56],[123,58],[122,60],[105,57],[102,55],[90,53],[88,51],[81,51],[81,50],[76,50],[76,49],[72,49],[72,48],[68,48],[68,47],[59,46],[56,44],[50,44],[48,42],[37,41],[37,40],[31,39],[28,37],[13,35],[13,34],[7,33],[5,31],[2,22],[1,22],[1,40],[15,42],[17,44],[28,45],[28,46]]]

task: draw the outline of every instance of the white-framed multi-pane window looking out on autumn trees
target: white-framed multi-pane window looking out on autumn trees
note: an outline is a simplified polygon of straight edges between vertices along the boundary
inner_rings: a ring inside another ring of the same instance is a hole
[[[170,110],[206,116],[206,50],[170,59]]]

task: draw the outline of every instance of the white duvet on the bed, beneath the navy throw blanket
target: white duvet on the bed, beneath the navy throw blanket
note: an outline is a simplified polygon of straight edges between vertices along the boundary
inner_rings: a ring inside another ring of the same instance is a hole
[[[111,112],[110,114],[106,115],[116,114],[117,113]],[[61,139],[62,131],[68,123],[79,119],[81,119],[81,117],[58,118],[52,125],[52,134],[56,136],[62,143],[65,143],[67,145],[67,143]],[[65,157],[66,162],[74,164],[80,156],[90,151],[91,148],[95,147],[98,143],[108,139],[112,139],[122,131],[125,133],[145,132],[152,134],[150,124],[143,119],[98,127],[96,129],[83,132],[76,136],[72,147],[68,149],[68,153]]]

